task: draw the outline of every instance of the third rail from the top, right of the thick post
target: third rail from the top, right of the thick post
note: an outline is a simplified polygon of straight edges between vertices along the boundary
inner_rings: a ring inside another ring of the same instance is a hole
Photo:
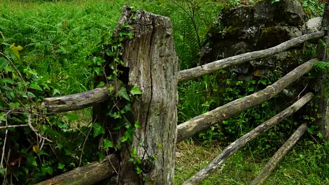
[[[297,112],[297,110],[300,109],[303,105],[305,105],[309,100],[311,100],[313,96],[314,95],[312,93],[306,94],[304,97],[299,99],[290,107],[286,108],[276,116],[265,121],[258,127],[254,128],[254,130],[248,132],[246,135],[242,136],[241,138],[237,139],[236,141],[228,145],[220,155],[218,155],[214,160],[210,162],[210,164],[208,164],[206,168],[202,169],[197,174],[192,176],[190,179],[185,181],[183,185],[194,185],[204,181],[209,175],[215,172],[216,169],[220,168],[221,165],[224,163],[224,161],[227,158],[229,158],[232,154],[234,154],[238,149],[243,147],[245,144],[247,144],[249,141],[259,136],[260,134],[269,130],[269,128],[271,128],[272,126],[275,126],[285,118]]]

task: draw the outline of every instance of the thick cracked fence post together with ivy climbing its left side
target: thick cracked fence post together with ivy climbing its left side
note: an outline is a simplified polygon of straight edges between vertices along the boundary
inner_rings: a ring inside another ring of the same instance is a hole
[[[179,67],[171,21],[124,7],[114,34],[98,48],[90,60],[99,59],[95,86],[120,85],[115,97],[94,106],[105,131],[97,136],[100,154],[120,156],[119,184],[173,183]]]

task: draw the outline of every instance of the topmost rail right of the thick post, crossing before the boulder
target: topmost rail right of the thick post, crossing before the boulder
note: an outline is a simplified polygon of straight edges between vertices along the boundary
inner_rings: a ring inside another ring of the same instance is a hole
[[[271,47],[260,51],[243,53],[226,59],[217,60],[202,66],[179,71],[178,83],[188,80],[193,80],[205,75],[209,75],[212,72],[215,72],[220,69],[224,69],[229,66],[239,65],[255,59],[269,57],[273,54],[280,53],[291,47],[302,44],[308,40],[321,38],[322,36],[324,36],[324,33],[325,31],[321,30],[314,33],[304,34],[302,36],[298,36],[297,38],[281,43],[275,47]]]

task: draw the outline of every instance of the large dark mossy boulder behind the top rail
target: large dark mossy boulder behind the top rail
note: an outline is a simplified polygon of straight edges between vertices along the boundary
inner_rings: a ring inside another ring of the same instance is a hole
[[[279,45],[302,35],[303,25],[305,14],[300,0],[281,0],[276,3],[261,0],[249,6],[225,7],[218,13],[217,24],[206,36],[201,54],[202,64]],[[262,68],[275,69],[279,65],[278,61],[286,61],[287,64],[295,66],[299,60],[288,57],[291,54],[280,54],[235,66],[232,70],[253,75],[255,70],[263,71]],[[278,56],[281,56],[282,60],[279,60]],[[254,65],[255,63],[258,65]],[[291,68],[285,64],[282,66]]]

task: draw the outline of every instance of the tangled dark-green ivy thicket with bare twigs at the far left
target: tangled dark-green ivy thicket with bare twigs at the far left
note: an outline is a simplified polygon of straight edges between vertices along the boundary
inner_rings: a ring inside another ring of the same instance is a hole
[[[20,46],[18,46],[20,47]],[[0,115],[2,180],[7,183],[36,183],[97,160],[93,139],[85,141],[90,128],[74,127],[79,117],[48,116],[40,107],[43,98],[56,89],[14,54],[15,46],[1,38]],[[5,123],[5,124],[4,124]],[[21,127],[11,127],[21,125]],[[85,143],[86,147],[81,145]],[[79,157],[78,157],[79,156]],[[15,176],[15,178],[10,178]]]

